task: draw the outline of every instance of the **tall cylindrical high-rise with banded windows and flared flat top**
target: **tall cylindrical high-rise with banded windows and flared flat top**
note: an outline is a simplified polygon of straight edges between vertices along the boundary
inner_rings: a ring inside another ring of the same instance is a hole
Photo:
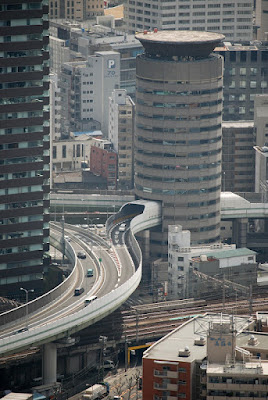
[[[137,57],[135,193],[162,202],[156,254],[166,253],[168,225],[189,229],[192,244],[218,241],[223,60],[212,51],[224,36],[154,30],[136,38],[145,51]]]

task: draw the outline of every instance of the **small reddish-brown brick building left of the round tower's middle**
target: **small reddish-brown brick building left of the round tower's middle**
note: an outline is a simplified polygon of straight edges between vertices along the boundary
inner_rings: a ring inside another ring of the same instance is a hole
[[[90,171],[107,180],[107,188],[115,189],[117,183],[117,154],[110,142],[103,147],[91,146]]]

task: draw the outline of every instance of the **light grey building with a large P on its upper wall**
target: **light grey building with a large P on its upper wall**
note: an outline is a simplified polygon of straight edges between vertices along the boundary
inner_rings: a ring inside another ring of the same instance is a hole
[[[109,96],[120,84],[120,56],[99,51],[87,61],[64,63],[60,74],[62,137],[101,129],[108,137]]]

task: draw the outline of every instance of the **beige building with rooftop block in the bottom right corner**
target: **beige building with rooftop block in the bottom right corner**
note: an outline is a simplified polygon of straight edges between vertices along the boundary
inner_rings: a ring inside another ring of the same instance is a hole
[[[206,388],[205,385],[201,386],[202,392],[206,393],[204,399],[265,398],[267,396],[268,362],[261,359],[260,353],[258,357],[252,353],[253,349],[256,352],[257,348],[260,351],[262,347],[259,337],[260,335],[255,335],[255,332],[246,335],[242,332],[236,335],[235,326],[232,323],[228,325],[219,322],[210,327]]]

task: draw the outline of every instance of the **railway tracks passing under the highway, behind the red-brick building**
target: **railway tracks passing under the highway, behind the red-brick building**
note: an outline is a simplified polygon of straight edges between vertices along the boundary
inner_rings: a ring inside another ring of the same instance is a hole
[[[202,304],[203,302],[203,304]],[[98,343],[99,336],[105,335],[108,341],[135,343],[136,341],[158,340],[173,329],[179,327],[193,316],[201,315],[206,312],[224,312],[235,314],[249,314],[249,303],[246,300],[230,301],[223,308],[222,303],[214,302],[205,304],[205,301],[189,300],[183,303],[165,305],[156,303],[145,306],[132,307],[129,310],[115,311],[110,317],[104,318],[92,327],[80,333],[79,347],[90,346]],[[178,305],[180,308],[178,309]],[[163,310],[163,307],[166,309]],[[268,297],[253,300],[253,312],[268,311]],[[117,327],[118,329],[115,329]],[[117,335],[117,336],[116,336]],[[10,360],[25,359],[39,349],[30,349],[21,354],[13,354]],[[0,358],[0,364],[8,362],[9,357]]]

